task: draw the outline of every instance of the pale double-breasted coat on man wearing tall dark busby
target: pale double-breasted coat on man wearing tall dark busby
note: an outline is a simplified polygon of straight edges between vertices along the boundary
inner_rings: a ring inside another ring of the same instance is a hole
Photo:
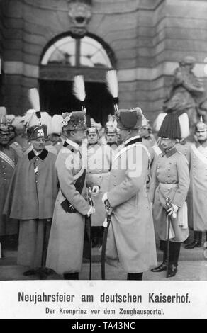
[[[189,190],[189,165],[186,157],[174,147],[167,153],[157,157],[157,165],[150,184],[150,200],[153,204],[155,232],[159,239],[167,239],[167,207],[166,198],[179,207],[174,221],[172,242],[184,242],[189,236],[187,227],[186,196]],[[181,210],[184,208],[185,210]],[[179,225],[178,216],[183,217],[183,225]],[[179,215],[180,214],[180,215]]]

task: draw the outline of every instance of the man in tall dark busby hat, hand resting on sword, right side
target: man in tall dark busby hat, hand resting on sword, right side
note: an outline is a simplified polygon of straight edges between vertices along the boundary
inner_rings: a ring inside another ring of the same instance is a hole
[[[163,262],[152,269],[160,272],[167,269],[167,213],[173,214],[172,233],[169,241],[169,277],[177,273],[181,242],[189,236],[187,225],[186,196],[189,190],[189,166],[186,158],[177,152],[175,143],[181,139],[178,118],[172,113],[165,116],[158,136],[162,137],[164,152],[157,158],[157,165],[150,184],[150,200],[153,203],[155,231],[164,242]],[[167,209],[166,199],[170,198],[172,207]],[[163,243],[162,243],[163,244]]]

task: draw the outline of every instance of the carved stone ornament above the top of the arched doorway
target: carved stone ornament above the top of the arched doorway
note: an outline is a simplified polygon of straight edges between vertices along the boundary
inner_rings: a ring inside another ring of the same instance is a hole
[[[72,33],[75,35],[84,35],[86,26],[91,19],[91,6],[82,1],[69,1],[68,15],[72,23]]]

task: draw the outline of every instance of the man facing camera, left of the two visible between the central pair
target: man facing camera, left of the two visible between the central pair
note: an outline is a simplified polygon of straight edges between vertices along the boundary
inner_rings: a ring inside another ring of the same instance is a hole
[[[93,201],[96,212],[91,216],[93,246],[101,246],[102,242],[105,209],[101,198],[108,191],[109,173],[114,156],[113,150],[108,145],[98,141],[98,135],[97,128],[91,127],[86,130],[88,143],[84,153],[87,161],[86,184],[93,188],[95,194]]]

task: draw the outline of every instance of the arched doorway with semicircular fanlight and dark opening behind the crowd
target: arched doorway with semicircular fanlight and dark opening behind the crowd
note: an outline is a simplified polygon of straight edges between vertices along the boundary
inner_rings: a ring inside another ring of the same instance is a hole
[[[40,103],[51,115],[79,109],[72,94],[75,75],[84,75],[86,108],[96,121],[106,123],[113,100],[105,84],[106,71],[116,67],[111,48],[94,35],[74,38],[65,33],[52,40],[40,58]]]

